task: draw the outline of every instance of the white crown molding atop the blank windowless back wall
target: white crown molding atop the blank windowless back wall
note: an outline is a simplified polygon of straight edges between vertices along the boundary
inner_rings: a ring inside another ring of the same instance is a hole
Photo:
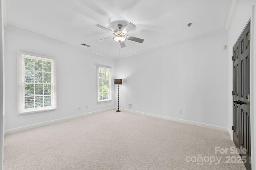
[[[222,33],[226,33],[226,32],[227,32],[226,29],[219,29],[219,30],[216,30],[216,31],[212,31],[210,33],[206,33],[206,34],[203,34],[203,35],[196,36],[196,37],[192,37],[192,38],[188,38],[188,39],[183,39],[183,40],[180,40],[180,41],[175,41],[175,42],[167,43],[167,44],[164,44],[164,45],[159,45],[159,46],[148,48],[148,49],[144,49],[144,50],[141,50],[141,51],[136,51],[134,53],[120,55],[120,56],[115,57],[115,59],[116,60],[117,59],[122,59],[124,57],[129,57],[129,56],[132,56],[132,55],[138,55],[138,54],[146,53],[146,52],[149,52],[149,51],[158,50],[158,49],[161,49],[161,48],[164,48],[164,47],[170,47],[172,45],[186,43],[188,41],[192,41],[192,40],[196,40],[196,39],[201,39],[201,38],[209,37],[209,36],[212,36],[212,35],[218,35],[218,34],[222,34]]]

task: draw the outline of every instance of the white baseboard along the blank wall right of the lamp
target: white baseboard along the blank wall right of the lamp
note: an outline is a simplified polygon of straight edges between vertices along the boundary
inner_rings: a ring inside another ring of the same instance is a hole
[[[116,108],[117,109],[117,108]],[[177,122],[180,122],[180,123],[187,123],[187,124],[190,124],[190,125],[196,125],[196,126],[201,126],[201,127],[207,127],[207,128],[211,128],[211,129],[217,129],[217,130],[221,130],[221,131],[226,131],[228,133],[230,133],[228,131],[228,128],[226,127],[221,127],[221,126],[216,126],[216,125],[209,125],[209,124],[206,124],[206,123],[199,123],[199,122],[195,122],[195,121],[188,121],[188,120],[184,120],[184,119],[176,119],[176,118],[173,118],[173,117],[167,117],[167,116],[161,116],[161,115],[154,115],[154,114],[151,114],[151,113],[144,113],[144,112],[141,112],[141,111],[134,111],[134,110],[129,110],[129,109],[121,109],[119,108],[121,111],[128,111],[130,113],[136,113],[136,114],[140,114],[140,115],[146,115],[146,116],[151,116],[151,117],[157,117],[157,118],[160,118],[160,119],[166,119],[166,120],[171,120],[171,121],[177,121]]]

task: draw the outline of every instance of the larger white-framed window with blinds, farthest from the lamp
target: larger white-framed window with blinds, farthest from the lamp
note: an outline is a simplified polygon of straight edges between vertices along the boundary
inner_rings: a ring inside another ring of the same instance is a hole
[[[56,62],[18,54],[18,112],[56,109]]]

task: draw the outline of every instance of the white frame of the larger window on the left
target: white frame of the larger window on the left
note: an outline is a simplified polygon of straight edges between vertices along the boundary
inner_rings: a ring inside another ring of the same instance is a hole
[[[51,62],[51,106],[25,109],[25,59],[37,59]],[[56,99],[56,59],[18,51],[18,115],[57,109]]]

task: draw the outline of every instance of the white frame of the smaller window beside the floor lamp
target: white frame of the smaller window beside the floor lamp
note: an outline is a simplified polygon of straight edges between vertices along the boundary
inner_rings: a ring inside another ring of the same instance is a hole
[[[112,88],[112,84],[111,84],[111,79],[112,79],[112,68],[110,66],[105,66],[105,65],[101,65],[101,64],[96,64],[97,66],[97,102],[98,103],[102,103],[102,102],[112,102],[112,93],[111,93],[111,88]],[[102,68],[104,70],[109,70],[109,82],[108,82],[108,86],[109,86],[109,99],[106,100],[100,100],[100,85],[99,85],[99,68]]]

